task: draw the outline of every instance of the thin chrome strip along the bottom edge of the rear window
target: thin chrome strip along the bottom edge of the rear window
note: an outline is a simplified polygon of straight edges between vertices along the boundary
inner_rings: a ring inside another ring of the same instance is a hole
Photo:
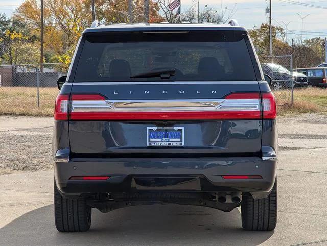
[[[129,81],[129,82],[66,82],[66,85],[182,85],[182,84],[258,84],[258,81]]]

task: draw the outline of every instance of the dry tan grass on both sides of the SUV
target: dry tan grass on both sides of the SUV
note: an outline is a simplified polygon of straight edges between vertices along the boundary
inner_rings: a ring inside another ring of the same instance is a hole
[[[58,92],[56,87],[40,88],[40,107],[38,108],[36,88],[0,87],[0,115],[52,116]],[[278,115],[312,112],[327,114],[326,89],[295,89],[293,107],[290,107],[289,90],[274,91],[274,94],[279,101]],[[283,106],[284,102],[289,104]]]

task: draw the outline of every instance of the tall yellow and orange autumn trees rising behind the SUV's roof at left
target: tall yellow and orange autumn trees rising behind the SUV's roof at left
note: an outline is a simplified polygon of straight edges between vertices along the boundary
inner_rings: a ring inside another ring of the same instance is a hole
[[[133,0],[133,21],[144,22],[144,0]],[[97,19],[106,23],[130,22],[128,0],[95,0]],[[161,22],[160,7],[149,0],[149,22]],[[91,0],[44,0],[44,54],[46,62],[67,62],[85,28],[92,22]],[[26,22],[40,37],[40,3],[25,0],[15,11],[15,20]]]

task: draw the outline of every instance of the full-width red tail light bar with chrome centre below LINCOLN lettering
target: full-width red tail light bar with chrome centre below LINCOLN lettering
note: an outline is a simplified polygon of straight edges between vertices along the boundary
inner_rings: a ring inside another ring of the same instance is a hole
[[[232,93],[223,99],[109,100],[99,94],[73,94],[71,120],[231,120],[275,119],[276,102],[271,92]],[[263,110],[261,110],[263,109]],[[263,111],[263,113],[262,113]],[[68,96],[59,94],[55,120],[67,120]]]

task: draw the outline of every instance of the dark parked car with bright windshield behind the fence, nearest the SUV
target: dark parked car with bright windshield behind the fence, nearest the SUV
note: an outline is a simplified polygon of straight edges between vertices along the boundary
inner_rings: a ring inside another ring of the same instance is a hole
[[[289,71],[287,68],[275,63],[261,63],[261,68],[264,73],[272,78],[271,88],[280,90],[289,88],[294,84],[294,87],[307,87],[307,76],[303,73]]]

